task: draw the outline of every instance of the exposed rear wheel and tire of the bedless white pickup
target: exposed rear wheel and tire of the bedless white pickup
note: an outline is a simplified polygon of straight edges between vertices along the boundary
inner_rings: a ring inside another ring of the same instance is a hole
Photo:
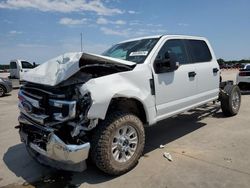
[[[225,116],[234,116],[239,112],[241,93],[237,85],[226,85],[221,93],[221,109]]]

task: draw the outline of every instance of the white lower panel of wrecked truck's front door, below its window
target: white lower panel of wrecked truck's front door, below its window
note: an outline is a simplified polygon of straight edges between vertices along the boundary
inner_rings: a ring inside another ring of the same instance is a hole
[[[171,114],[194,103],[196,76],[189,77],[189,72],[195,71],[195,67],[188,64],[181,65],[174,72],[156,75],[157,116]]]

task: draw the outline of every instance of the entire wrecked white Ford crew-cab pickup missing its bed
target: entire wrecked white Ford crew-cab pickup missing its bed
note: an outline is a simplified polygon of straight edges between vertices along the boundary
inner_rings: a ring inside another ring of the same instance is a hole
[[[28,152],[43,164],[76,171],[91,157],[112,175],[137,164],[145,126],[218,100],[233,116],[241,103],[238,86],[220,83],[203,37],[151,36],[118,43],[103,55],[68,53],[24,80],[16,128]]]

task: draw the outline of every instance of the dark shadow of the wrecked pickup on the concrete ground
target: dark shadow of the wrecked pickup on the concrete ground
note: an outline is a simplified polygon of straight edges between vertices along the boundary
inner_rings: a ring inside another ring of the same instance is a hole
[[[220,106],[218,105],[206,105],[161,121],[155,126],[147,127],[144,155],[159,148],[160,144],[168,144],[206,126],[205,123],[201,122],[206,117],[224,117],[219,110]],[[105,175],[91,162],[87,164],[88,169],[81,173],[44,167],[28,155],[24,144],[10,147],[4,154],[3,161],[10,171],[26,181],[23,185],[13,184],[9,187],[79,187],[83,183],[95,185],[119,178]]]

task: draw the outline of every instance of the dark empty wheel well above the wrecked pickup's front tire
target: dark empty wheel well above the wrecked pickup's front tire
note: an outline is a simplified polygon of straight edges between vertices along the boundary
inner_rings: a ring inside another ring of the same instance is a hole
[[[146,112],[143,104],[137,99],[125,97],[113,98],[109,104],[107,113],[115,110],[132,113],[140,118],[143,124],[147,123]]]

